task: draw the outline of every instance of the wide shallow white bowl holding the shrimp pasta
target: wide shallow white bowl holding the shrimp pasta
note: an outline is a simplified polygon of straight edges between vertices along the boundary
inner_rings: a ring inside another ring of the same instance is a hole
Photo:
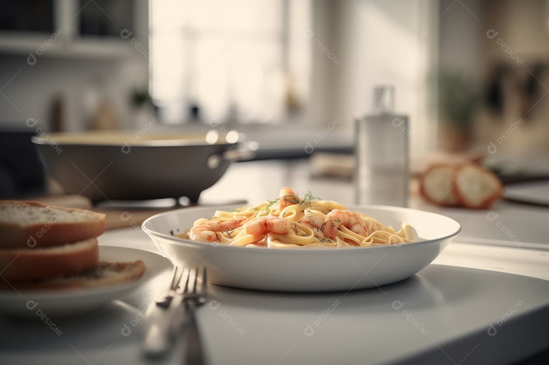
[[[173,237],[200,217],[236,206],[193,207],[160,213],[142,224],[161,252],[175,265],[205,266],[208,282],[270,291],[348,291],[380,287],[406,279],[429,265],[460,232],[449,217],[390,206],[349,206],[399,228],[412,226],[418,242],[369,248],[263,249],[193,242]]]

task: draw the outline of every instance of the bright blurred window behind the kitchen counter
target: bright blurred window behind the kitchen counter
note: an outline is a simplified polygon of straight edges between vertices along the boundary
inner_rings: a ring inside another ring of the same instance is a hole
[[[266,123],[299,110],[310,16],[310,0],[151,1],[150,93],[161,120]]]

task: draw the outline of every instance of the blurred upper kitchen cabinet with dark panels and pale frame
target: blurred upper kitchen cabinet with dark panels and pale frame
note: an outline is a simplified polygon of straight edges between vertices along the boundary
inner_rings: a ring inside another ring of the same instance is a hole
[[[146,0],[9,3],[14,16],[0,16],[0,54],[28,54],[30,64],[39,57],[126,57],[135,54],[132,39],[148,42]]]

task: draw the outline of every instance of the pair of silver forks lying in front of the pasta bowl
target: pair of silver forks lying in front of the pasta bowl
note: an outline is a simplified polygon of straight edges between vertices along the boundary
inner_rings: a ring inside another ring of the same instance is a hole
[[[176,267],[174,269],[169,290],[156,301],[156,306],[148,313],[151,325],[143,344],[145,355],[150,357],[165,355],[173,345],[185,319],[188,319],[189,323],[187,341],[193,341],[192,347],[187,351],[187,356],[201,355],[194,309],[206,302],[206,269],[203,270],[200,288],[198,288],[198,272],[198,268],[194,270],[194,274],[190,268]],[[200,361],[200,357],[198,359]]]

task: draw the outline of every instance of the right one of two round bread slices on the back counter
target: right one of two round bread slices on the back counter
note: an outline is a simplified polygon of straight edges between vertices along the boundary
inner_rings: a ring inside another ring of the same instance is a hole
[[[456,170],[456,179],[459,183],[454,192],[462,206],[486,209],[503,195],[500,178],[478,165],[461,165]]]

